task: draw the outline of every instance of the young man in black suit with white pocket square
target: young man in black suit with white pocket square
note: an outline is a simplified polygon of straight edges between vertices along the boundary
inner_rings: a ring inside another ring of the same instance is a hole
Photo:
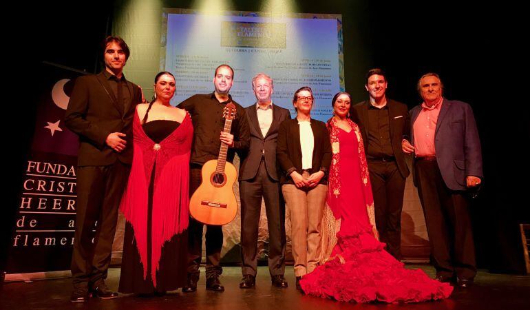
[[[375,223],[381,242],[401,259],[401,209],[405,180],[410,174],[401,151],[408,132],[407,105],[387,99],[388,83],[381,69],[369,70],[365,88],[370,99],[350,108],[352,120],[361,128],[370,182],[374,194]]]

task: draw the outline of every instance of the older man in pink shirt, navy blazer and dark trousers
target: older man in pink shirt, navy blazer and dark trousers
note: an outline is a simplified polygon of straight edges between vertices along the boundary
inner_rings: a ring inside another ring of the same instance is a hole
[[[469,287],[476,275],[475,249],[465,193],[483,178],[478,130],[471,107],[443,97],[436,73],[418,81],[423,103],[410,111],[414,185],[427,223],[436,278]]]

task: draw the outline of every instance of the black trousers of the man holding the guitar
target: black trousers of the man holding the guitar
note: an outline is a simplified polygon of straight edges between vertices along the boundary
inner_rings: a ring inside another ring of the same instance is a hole
[[[200,186],[202,176],[201,167],[191,165],[189,169],[189,196],[193,195]],[[202,230],[204,224],[189,218],[188,227],[188,273],[199,273],[202,260]],[[220,225],[206,225],[206,278],[218,276],[222,273],[221,249],[223,245],[223,231]]]

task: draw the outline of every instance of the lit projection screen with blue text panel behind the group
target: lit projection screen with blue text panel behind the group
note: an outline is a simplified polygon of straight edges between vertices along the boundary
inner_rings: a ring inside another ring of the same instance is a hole
[[[332,96],[344,90],[341,19],[340,14],[271,17],[165,9],[160,70],[176,76],[173,105],[212,92],[215,68],[227,63],[235,71],[231,94],[244,107],[255,103],[253,76],[264,72],[274,80],[273,103],[295,115],[293,93],[309,86],[315,96],[312,117],[327,121]]]

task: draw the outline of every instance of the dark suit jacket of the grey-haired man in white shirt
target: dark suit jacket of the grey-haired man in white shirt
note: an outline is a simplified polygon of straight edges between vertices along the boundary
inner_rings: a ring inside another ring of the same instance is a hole
[[[259,129],[257,121],[256,104],[245,107],[246,119],[251,134],[251,145],[244,153],[240,166],[240,180],[251,180],[257,174],[262,154],[265,154],[265,167],[267,174],[273,180],[279,181],[279,167],[276,165],[276,142],[278,138],[279,125],[286,119],[290,119],[289,110],[273,104],[273,122],[265,136]],[[264,150],[264,152],[263,152]]]

